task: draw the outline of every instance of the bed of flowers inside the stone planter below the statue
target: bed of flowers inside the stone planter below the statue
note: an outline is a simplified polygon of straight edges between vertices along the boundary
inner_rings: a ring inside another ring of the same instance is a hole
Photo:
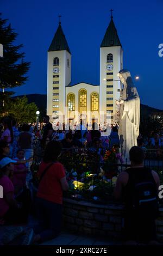
[[[117,161],[121,155],[107,150],[104,157],[97,149],[68,149],[62,151],[59,162],[66,169],[69,189],[66,197],[91,200],[96,203],[106,203],[112,200],[116,175],[107,175],[104,165],[107,161]],[[107,168],[108,170],[108,168]],[[33,172],[33,178],[37,170]],[[37,180],[36,180],[37,181]],[[36,182],[37,185],[37,182]]]

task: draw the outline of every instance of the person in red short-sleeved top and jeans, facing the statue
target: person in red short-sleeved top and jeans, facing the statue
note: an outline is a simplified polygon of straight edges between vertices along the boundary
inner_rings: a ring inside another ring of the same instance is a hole
[[[34,228],[34,242],[53,239],[61,230],[62,191],[68,190],[68,184],[64,166],[57,161],[60,152],[60,142],[49,142],[40,164],[36,198],[39,225]]]

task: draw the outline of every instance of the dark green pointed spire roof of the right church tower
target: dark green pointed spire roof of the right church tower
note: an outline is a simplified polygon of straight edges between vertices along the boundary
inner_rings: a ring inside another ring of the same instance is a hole
[[[103,41],[100,47],[108,47],[108,46],[121,46],[120,39],[118,38],[117,29],[114,25],[114,21],[112,20],[106,29],[106,33],[104,35]]]

